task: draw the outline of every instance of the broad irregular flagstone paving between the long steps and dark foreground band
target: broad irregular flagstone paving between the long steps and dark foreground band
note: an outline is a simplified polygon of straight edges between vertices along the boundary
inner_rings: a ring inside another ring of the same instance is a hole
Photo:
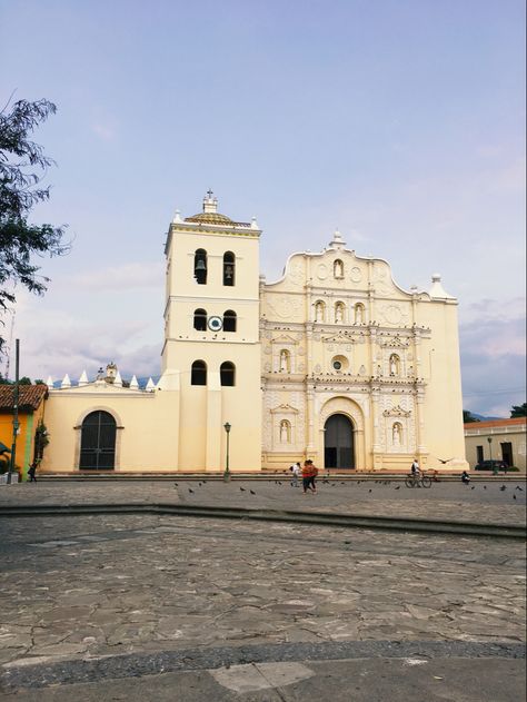
[[[133,515],[0,520],[0,661],[525,639],[521,542]]]

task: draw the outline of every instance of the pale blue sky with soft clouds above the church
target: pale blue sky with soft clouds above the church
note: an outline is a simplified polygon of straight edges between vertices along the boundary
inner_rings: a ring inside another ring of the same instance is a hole
[[[261,269],[350,248],[460,301],[465,406],[525,402],[523,0],[0,0],[0,101],[46,97],[38,220],[72,253],[20,295],[22,372],[156,374],[176,208],[258,217]]]

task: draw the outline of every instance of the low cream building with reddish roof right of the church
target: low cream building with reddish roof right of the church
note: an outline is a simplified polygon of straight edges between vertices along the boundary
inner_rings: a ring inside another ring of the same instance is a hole
[[[526,417],[465,424],[465,448],[470,468],[481,461],[495,459],[505,461],[508,466],[525,473],[526,432]]]

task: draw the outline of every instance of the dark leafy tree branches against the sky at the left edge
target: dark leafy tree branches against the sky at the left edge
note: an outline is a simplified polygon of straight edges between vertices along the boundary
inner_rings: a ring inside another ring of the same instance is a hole
[[[0,309],[16,301],[14,286],[43,295],[49,278],[39,275],[37,256],[61,256],[64,226],[28,221],[31,209],[49,199],[41,179],[53,165],[42,147],[30,137],[34,128],[57,108],[48,100],[19,100],[0,111]],[[3,345],[0,336],[0,349]]]

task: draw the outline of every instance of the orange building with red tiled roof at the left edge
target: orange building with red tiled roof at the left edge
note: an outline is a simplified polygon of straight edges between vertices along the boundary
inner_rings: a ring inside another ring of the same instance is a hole
[[[34,458],[39,457],[37,436],[42,431],[47,385],[19,385],[19,432],[17,435],[16,464],[22,479]],[[9,448],[13,436],[14,386],[0,385],[0,442]],[[39,426],[41,427],[39,429]],[[6,454],[6,458],[11,454]]]

